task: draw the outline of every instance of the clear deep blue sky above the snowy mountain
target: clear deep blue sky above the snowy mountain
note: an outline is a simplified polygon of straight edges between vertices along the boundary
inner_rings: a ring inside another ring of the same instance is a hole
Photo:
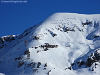
[[[21,34],[56,12],[100,14],[100,0],[27,0],[27,3],[0,3],[0,37]]]

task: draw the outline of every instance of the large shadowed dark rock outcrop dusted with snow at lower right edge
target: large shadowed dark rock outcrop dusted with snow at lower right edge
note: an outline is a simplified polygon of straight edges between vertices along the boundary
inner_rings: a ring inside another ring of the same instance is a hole
[[[86,61],[84,60],[76,61],[75,63],[72,64],[72,66],[77,66],[79,68],[81,68],[82,66],[92,67],[91,71],[94,71],[94,69],[98,65],[97,63],[100,64],[100,49],[91,52],[90,55],[87,57]]]

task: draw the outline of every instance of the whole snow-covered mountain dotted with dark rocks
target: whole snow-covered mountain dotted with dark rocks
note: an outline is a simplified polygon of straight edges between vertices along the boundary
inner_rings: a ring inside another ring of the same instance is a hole
[[[55,13],[0,38],[5,75],[100,75],[100,14]]]

